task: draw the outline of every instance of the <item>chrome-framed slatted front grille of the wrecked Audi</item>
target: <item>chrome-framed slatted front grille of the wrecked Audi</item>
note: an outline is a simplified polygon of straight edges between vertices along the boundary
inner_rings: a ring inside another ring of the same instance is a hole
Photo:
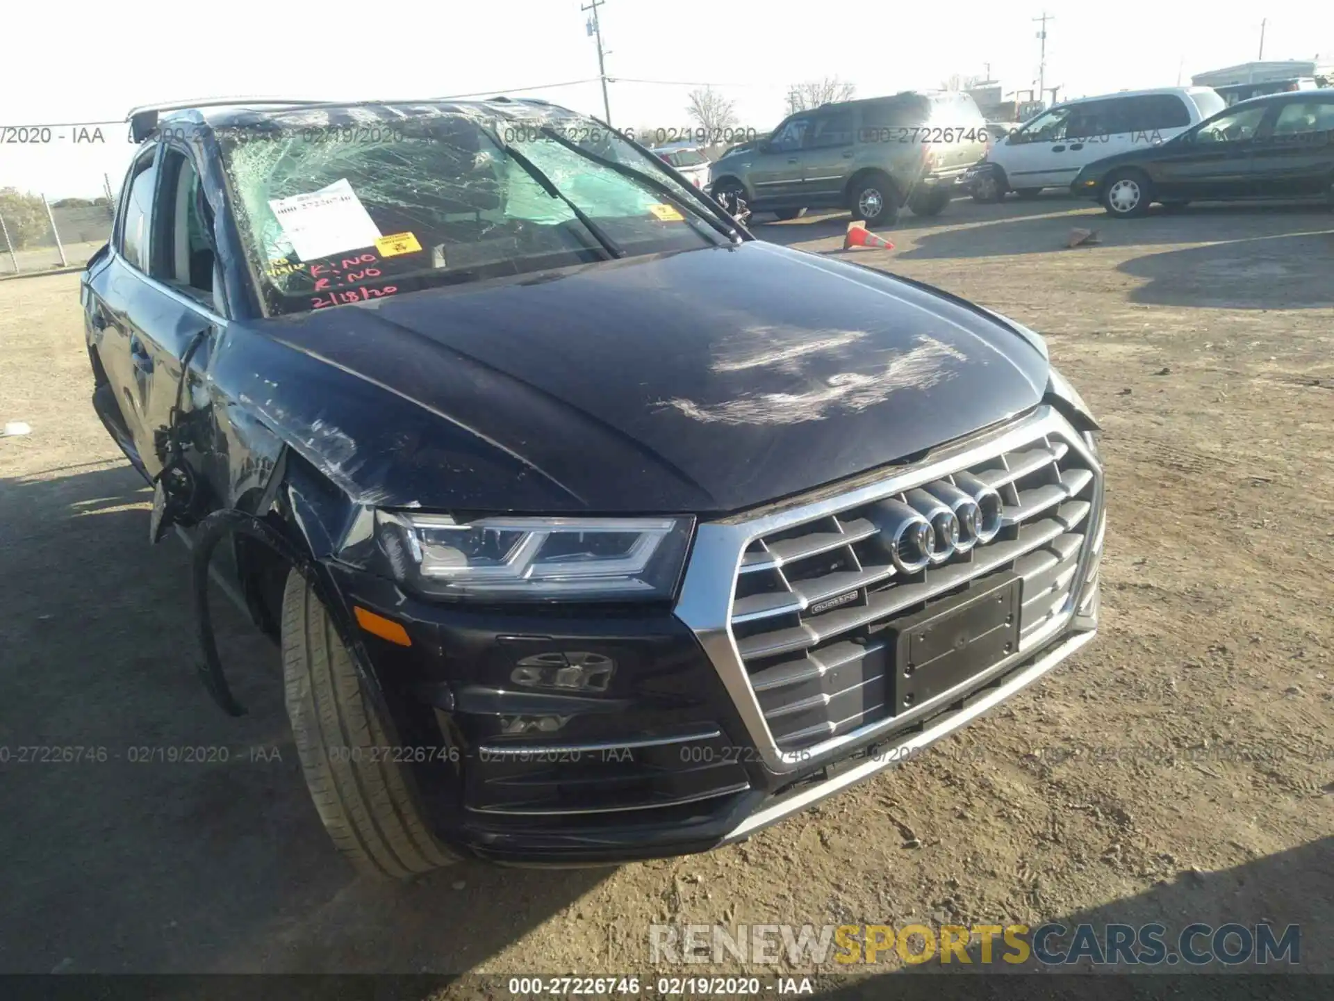
[[[902,511],[914,498],[924,507],[923,488],[951,498],[995,491],[1000,505],[990,537],[924,569],[895,559],[886,511]],[[719,546],[724,563],[735,547],[726,625],[696,631],[771,766],[791,767],[896,723],[884,627],[928,602],[1011,571],[1023,579],[1017,653],[1051,637],[1073,611],[1101,488],[1101,470],[1078,434],[1042,407],[982,443],[846,494],[702,526],[679,610],[691,625],[707,621],[715,611],[704,607],[710,591],[715,601],[724,597],[700,579],[695,562]]]

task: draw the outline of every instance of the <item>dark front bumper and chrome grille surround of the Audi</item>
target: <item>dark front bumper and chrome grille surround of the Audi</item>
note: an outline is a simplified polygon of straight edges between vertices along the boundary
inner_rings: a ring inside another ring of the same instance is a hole
[[[1034,432],[1070,430],[1042,410],[1022,428],[894,478],[936,475],[940,463],[963,468]],[[800,510],[700,526],[674,607],[476,610],[418,602],[387,581],[332,570],[348,602],[403,622],[412,638],[411,647],[363,639],[399,739],[450,751],[404,758],[439,837],[504,864],[616,864],[743,840],[914,757],[1087,643],[1098,625],[1101,467],[1094,486],[1095,495],[1085,492],[1094,496],[1087,545],[1065,571],[1074,579],[1069,597],[1019,649],[911,711],[867,715],[866,725],[796,750],[779,746],[788,738],[764,718],[771,706],[751,690],[726,622],[740,553],[775,525],[786,531],[782,519],[800,519]],[[722,577],[708,566],[719,554]],[[534,657],[602,658],[615,670],[598,690],[523,687],[515,666]]]

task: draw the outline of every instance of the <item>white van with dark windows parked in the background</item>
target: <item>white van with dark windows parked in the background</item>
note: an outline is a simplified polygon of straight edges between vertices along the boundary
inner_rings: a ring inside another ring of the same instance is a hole
[[[970,187],[978,200],[987,202],[1006,191],[1033,198],[1043,188],[1069,188],[1085,164],[1139,144],[1163,143],[1225,107],[1211,87],[1122,91],[1066,101],[994,143],[986,156],[990,178],[979,170]]]

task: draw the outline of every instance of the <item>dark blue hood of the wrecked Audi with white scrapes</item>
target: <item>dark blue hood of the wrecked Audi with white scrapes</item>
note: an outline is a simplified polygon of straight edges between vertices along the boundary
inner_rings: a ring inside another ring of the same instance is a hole
[[[760,242],[232,326],[233,399],[348,492],[426,509],[742,510],[1003,420],[1047,382],[1041,343],[994,314]]]

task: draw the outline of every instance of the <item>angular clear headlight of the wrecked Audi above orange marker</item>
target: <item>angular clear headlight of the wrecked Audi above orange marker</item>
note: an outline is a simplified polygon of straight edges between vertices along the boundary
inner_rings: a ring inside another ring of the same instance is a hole
[[[676,590],[691,518],[479,518],[376,511],[394,577],[492,601],[644,601]]]

